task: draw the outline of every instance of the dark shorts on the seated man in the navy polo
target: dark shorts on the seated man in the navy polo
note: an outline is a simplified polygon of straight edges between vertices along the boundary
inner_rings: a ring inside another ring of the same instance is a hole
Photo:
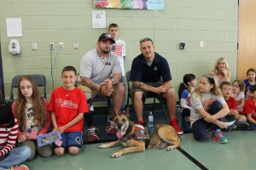
[[[148,84],[149,86],[153,86],[155,88],[160,87],[163,85],[163,82],[143,82],[144,84]],[[143,90],[143,88],[135,88],[134,85],[131,86],[131,100],[132,103],[134,102],[134,96],[136,92],[143,92],[143,103],[145,103],[145,100],[147,98],[156,98],[160,100],[160,102],[166,101],[165,98],[163,98],[163,94],[155,94],[154,92],[148,92]]]

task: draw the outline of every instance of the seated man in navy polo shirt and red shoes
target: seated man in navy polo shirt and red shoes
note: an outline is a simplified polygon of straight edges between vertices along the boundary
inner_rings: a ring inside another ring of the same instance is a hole
[[[177,125],[176,97],[171,86],[172,76],[168,62],[160,54],[155,53],[154,48],[151,38],[141,39],[142,54],[133,59],[131,65],[131,92],[137,122],[146,123],[143,121],[143,103],[147,94],[154,94],[158,99],[166,99],[170,125],[176,129],[178,134],[183,134],[182,129]]]

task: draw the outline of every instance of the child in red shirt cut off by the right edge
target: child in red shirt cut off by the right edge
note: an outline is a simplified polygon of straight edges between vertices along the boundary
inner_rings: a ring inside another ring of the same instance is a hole
[[[247,115],[249,130],[256,130],[256,85],[251,86],[250,96],[243,107],[243,113]]]

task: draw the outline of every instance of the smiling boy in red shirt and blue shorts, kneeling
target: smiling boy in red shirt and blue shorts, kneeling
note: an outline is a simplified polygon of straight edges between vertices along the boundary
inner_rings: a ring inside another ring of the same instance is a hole
[[[74,86],[77,71],[73,66],[66,66],[61,72],[63,86],[55,88],[49,100],[49,112],[53,123],[53,131],[60,131],[61,144],[53,143],[56,156],[68,151],[72,155],[79,153],[82,147],[84,113],[88,113],[84,92]]]

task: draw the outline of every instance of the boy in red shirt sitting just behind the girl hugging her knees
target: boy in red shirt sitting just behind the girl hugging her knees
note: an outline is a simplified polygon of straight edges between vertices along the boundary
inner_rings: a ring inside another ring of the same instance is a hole
[[[246,116],[239,115],[237,111],[236,99],[231,97],[232,95],[232,84],[230,82],[222,82],[219,86],[221,93],[224,96],[224,100],[229,106],[230,112],[228,115],[222,118],[223,122],[232,122],[236,121],[234,124],[227,127],[225,130],[230,131],[231,129],[237,130],[247,130],[249,124],[247,123]]]

